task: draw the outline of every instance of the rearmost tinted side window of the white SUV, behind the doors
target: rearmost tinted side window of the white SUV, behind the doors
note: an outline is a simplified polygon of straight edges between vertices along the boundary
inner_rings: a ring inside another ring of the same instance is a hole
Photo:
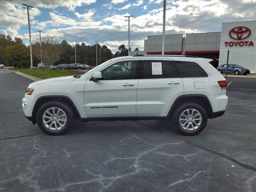
[[[181,78],[208,77],[204,69],[195,62],[174,61]]]

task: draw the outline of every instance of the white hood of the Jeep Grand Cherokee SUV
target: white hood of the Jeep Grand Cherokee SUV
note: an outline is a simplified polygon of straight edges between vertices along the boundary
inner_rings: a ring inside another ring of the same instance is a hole
[[[63,84],[63,83],[69,83],[74,81],[76,78],[72,76],[64,76],[64,77],[54,77],[54,78],[49,78],[49,79],[45,79],[45,80],[40,80],[40,81],[36,81],[34,83],[31,83],[29,85],[29,88],[32,88],[34,86],[37,85],[53,85],[53,84]]]

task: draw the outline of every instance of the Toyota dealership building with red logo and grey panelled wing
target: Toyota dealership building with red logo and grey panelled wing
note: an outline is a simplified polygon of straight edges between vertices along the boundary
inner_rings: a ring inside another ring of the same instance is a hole
[[[256,21],[222,23],[221,32],[165,35],[164,54],[212,58],[213,66],[238,64],[256,73]],[[144,54],[162,54],[162,35],[144,40]]]

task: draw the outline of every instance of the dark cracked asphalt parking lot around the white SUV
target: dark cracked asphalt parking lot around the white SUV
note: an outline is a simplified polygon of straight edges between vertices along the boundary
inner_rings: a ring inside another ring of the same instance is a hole
[[[226,113],[196,136],[153,120],[48,136],[22,113],[32,80],[0,70],[0,191],[256,191],[256,78],[231,81]]]

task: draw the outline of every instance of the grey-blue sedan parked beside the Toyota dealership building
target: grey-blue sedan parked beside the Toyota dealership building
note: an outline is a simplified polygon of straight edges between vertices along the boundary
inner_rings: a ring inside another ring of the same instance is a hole
[[[224,64],[224,65],[218,66],[217,70],[220,73],[226,73],[226,68],[227,68],[227,65]],[[236,74],[236,75],[239,75],[239,74],[247,75],[247,74],[250,74],[250,70],[240,65],[228,64],[228,74],[230,73]]]

